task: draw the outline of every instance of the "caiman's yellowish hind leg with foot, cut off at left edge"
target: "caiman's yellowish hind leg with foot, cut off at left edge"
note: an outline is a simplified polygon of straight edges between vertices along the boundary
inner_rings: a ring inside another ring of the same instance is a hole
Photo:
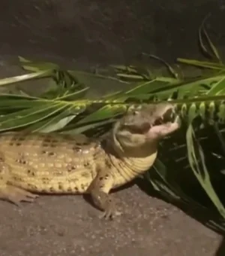
[[[20,206],[20,202],[33,202],[38,196],[31,194],[20,187],[8,184],[10,179],[10,167],[4,162],[0,156],[0,199],[7,200]]]

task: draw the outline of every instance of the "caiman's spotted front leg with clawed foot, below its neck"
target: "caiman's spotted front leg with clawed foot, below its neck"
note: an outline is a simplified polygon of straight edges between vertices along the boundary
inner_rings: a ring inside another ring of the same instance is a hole
[[[99,172],[88,189],[88,193],[91,194],[95,206],[104,211],[104,214],[100,215],[100,218],[107,220],[121,215],[121,212],[116,210],[115,200],[113,200],[112,195],[109,194],[113,183],[112,175],[106,172]]]

